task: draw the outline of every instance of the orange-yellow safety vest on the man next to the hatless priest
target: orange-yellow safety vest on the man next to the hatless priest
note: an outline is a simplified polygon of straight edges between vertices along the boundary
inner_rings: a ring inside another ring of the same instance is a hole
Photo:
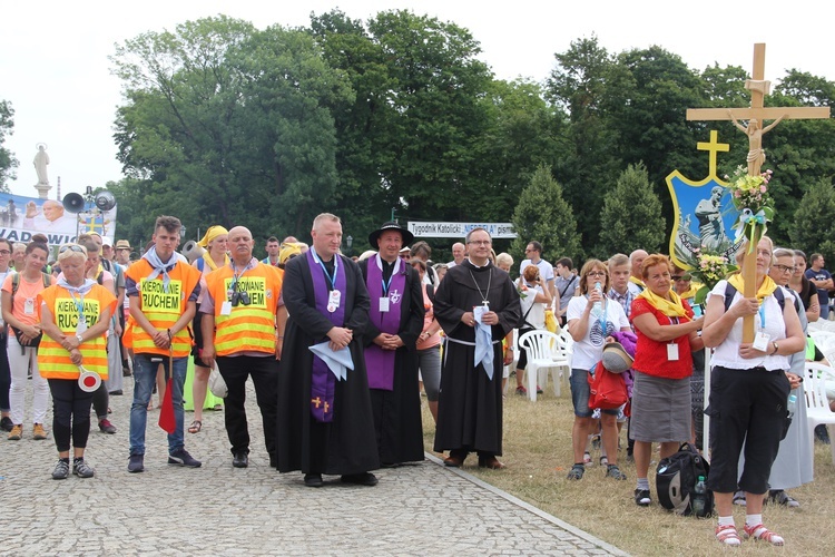
[[[283,272],[258,263],[238,277],[237,290],[246,291],[249,305],[238,303],[222,315],[224,302],[234,282],[232,265],[206,275],[206,289],[215,302],[215,351],[217,355],[236,352],[275,352],[275,314],[282,293]]]

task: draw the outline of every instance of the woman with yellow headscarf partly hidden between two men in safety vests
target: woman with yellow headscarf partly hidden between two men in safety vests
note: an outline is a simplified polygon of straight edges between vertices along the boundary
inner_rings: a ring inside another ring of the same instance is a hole
[[[203,275],[200,276],[200,297],[197,300],[197,313],[194,316],[194,323],[191,324],[191,331],[194,333],[195,345],[191,350],[191,356],[194,359],[194,379],[191,382],[191,404],[194,405],[194,420],[188,427],[189,433],[199,433],[203,429],[203,410],[204,408],[215,408],[222,403],[223,399],[216,399],[212,393],[208,393],[208,378],[212,370],[206,368],[200,360],[200,348],[203,346],[203,332],[200,331],[200,320],[203,313],[199,312],[200,302],[203,301],[203,293],[206,291],[206,275],[218,267],[229,264],[229,256],[226,254],[227,243],[229,241],[229,231],[223,226],[209,226],[203,240],[198,242],[198,245],[205,251],[200,257],[197,257],[191,266],[197,267]],[[190,378],[189,378],[190,379]],[[184,387],[185,392],[189,391],[189,381],[186,381]]]

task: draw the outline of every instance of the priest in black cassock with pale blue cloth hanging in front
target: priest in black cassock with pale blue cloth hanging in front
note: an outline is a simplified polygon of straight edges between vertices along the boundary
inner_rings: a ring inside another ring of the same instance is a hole
[[[471,451],[482,468],[501,469],[502,344],[520,321],[510,275],[490,262],[484,228],[466,235],[469,257],[446,272],[434,311],[446,333],[441,372],[435,451],[450,451],[444,465],[461,467]]]

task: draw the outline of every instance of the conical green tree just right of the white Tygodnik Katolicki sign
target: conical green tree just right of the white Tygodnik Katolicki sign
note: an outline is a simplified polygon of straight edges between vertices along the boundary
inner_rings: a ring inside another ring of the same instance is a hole
[[[553,179],[551,168],[540,165],[522,190],[513,212],[517,237],[510,253],[518,261],[524,258],[524,247],[536,240],[542,244],[542,258],[554,262],[560,257],[580,261],[582,237],[577,231],[574,212],[562,197],[562,186]]]

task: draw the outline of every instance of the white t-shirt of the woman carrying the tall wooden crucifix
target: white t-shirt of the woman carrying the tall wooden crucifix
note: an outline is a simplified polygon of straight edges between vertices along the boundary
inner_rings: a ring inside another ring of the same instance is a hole
[[[725,287],[728,281],[719,281],[719,283],[710,291],[711,296],[719,296],[725,303]],[[734,294],[734,300],[730,305],[734,305],[738,300],[743,297],[743,294],[737,291]],[[793,303],[789,296],[786,296],[786,303]],[[783,312],[780,311],[779,302],[774,295],[767,296],[763,300],[760,305],[763,313],[754,315],[754,330],[755,332],[765,331],[769,338],[769,342],[777,341],[786,338],[786,323],[783,321]],[[765,328],[763,326],[763,317],[765,317]],[[730,368],[731,370],[748,370],[750,368],[765,368],[769,371],[775,370],[788,370],[788,356],[785,355],[766,355],[763,358],[750,358],[746,359],[739,355],[739,344],[743,342],[743,320],[736,320],[734,326],[728,332],[721,344],[714,349],[714,355],[710,358],[711,365],[721,365],[723,368]]]

